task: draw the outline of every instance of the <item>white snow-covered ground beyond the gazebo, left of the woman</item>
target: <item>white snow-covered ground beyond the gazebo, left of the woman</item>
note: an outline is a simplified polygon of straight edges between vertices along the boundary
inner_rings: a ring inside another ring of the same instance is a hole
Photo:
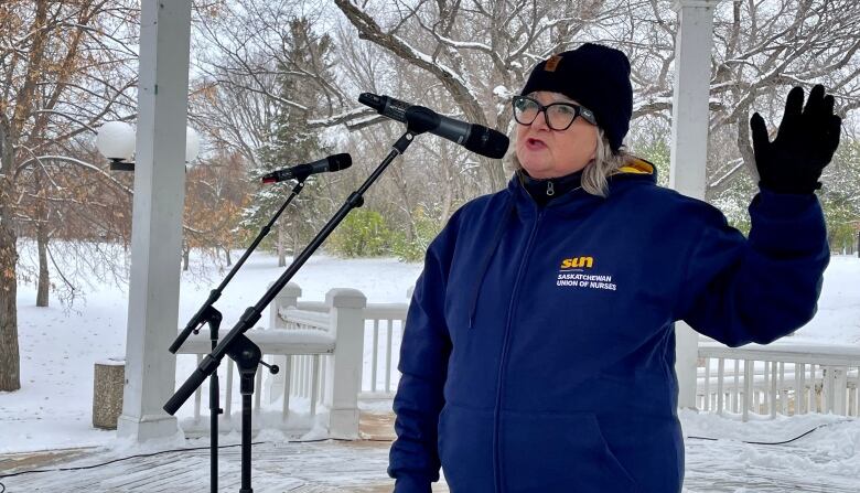
[[[202,274],[203,259],[193,261],[182,278],[180,324],[197,311],[208,291],[227,274],[214,267]],[[407,289],[420,271],[420,264],[397,259],[314,256],[293,282],[302,288],[301,299],[305,300],[323,300],[329,289],[348,287],[364,292],[368,302],[406,302]],[[229,329],[246,308],[255,304],[282,272],[276,257],[251,256],[216,303],[225,328]],[[35,287],[19,287],[21,389],[0,393],[0,453],[86,447],[114,439],[115,432],[92,426],[93,372],[97,361],[125,357],[128,292],[95,280],[92,283],[85,303],[72,311],[64,310],[55,299],[50,308],[36,308]],[[178,385],[194,366],[193,356],[179,356]],[[181,419],[191,416],[192,400],[178,412]]]

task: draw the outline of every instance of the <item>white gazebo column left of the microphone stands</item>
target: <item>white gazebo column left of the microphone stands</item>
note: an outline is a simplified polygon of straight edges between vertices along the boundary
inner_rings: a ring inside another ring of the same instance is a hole
[[[131,277],[126,386],[118,435],[138,441],[172,436],[176,419],[162,406],[173,394],[191,0],[143,0],[140,19]]]

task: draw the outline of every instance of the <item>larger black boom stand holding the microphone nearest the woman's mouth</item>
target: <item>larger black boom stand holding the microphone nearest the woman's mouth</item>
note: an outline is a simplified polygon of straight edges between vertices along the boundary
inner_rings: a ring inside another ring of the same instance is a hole
[[[350,194],[346,202],[341,206],[334,216],[325,223],[325,226],[316,234],[311,243],[299,254],[289,268],[278,278],[275,283],[266,291],[266,293],[257,301],[254,307],[248,307],[239,318],[236,325],[221,340],[218,345],[212,350],[212,353],[207,354],[197,369],[191,374],[191,376],[182,384],[179,390],[164,405],[164,410],[170,415],[174,415],[176,410],[182,406],[185,400],[194,394],[203,384],[203,381],[207,376],[216,372],[224,355],[228,355],[236,361],[236,365],[239,367],[239,373],[243,377],[241,381],[241,394],[243,394],[243,429],[241,429],[241,487],[239,493],[252,493],[254,490],[250,485],[250,431],[251,431],[251,415],[250,415],[250,395],[254,393],[254,377],[257,372],[257,364],[260,361],[260,349],[254,344],[251,340],[245,336],[245,332],[254,326],[260,319],[262,311],[271,303],[276,296],[287,283],[295,276],[295,272],[308,261],[308,259],[316,251],[318,248],[325,242],[329,235],[337,227],[338,224],[346,217],[346,215],[356,207],[361,207],[364,204],[364,194],[373,185],[373,183],[383,174],[394,159],[402,154],[409,144],[415,139],[415,136],[426,132],[432,128],[433,121],[428,120],[423,114],[407,112],[407,131],[404,133],[397,142],[393,146],[394,149],[388,156],[379,163],[374,170],[370,176],[365,180],[362,186]],[[245,368],[245,369],[243,369]],[[247,393],[247,394],[246,394]]]

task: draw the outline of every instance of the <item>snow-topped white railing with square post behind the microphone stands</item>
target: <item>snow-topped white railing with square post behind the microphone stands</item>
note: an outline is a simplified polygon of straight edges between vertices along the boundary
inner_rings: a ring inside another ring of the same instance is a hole
[[[299,296],[298,286],[284,287],[270,306],[270,326],[246,332],[260,347],[264,357],[281,369],[267,377],[265,385],[261,385],[262,374],[268,372],[265,368],[257,372],[254,410],[261,415],[267,407],[261,405],[262,396],[267,394],[269,405],[280,400],[281,406],[278,422],[269,420],[265,426],[294,429],[297,427],[290,422],[291,399],[301,397],[308,403],[311,419],[299,420],[303,422],[299,428],[313,427],[318,422],[318,406],[321,406],[325,410],[323,425],[329,436],[357,437],[366,299],[354,289],[332,289],[326,293],[325,302],[302,307],[298,303]],[[297,304],[300,309],[290,308]],[[196,354],[197,361],[208,354],[212,347],[205,332],[189,337],[180,352]],[[239,400],[238,389],[233,385],[234,364],[227,360],[226,385],[221,397],[226,418],[223,421],[227,426],[219,429],[224,431],[230,429],[233,401]],[[183,430],[196,432],[208,425],[208,419],[202,419],[208,415],[208,406],[205,409],[201,406],[204,393],[208,395],[206,384],[195,394],[193,425],[183,426]]]

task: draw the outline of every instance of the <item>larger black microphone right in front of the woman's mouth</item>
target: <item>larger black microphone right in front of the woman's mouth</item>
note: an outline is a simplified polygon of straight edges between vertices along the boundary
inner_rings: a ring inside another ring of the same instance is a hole
[[[417,119],[421,130],[456,142],[487,158],[502,159],[510,143],[507,136],[492,128],[455,120],[423,106],[410,105],[393,97],[362,93],[358,103],[393,120],[413,124]]]

